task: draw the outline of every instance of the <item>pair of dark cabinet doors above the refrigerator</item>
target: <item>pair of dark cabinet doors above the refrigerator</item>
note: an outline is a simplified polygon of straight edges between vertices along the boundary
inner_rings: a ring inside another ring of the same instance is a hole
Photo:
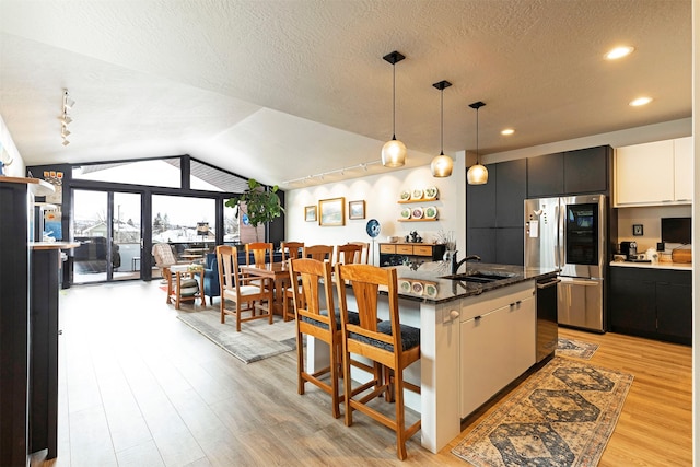
[[[609,145],[527,157],[527,197],[609,194],[611,163]]]

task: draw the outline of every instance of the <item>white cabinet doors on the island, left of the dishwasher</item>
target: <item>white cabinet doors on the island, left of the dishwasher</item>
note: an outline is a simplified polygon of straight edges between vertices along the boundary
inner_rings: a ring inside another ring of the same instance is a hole
[[[530,281],[463,301],[459,317],[462,418],[535,364],[534,290]]]

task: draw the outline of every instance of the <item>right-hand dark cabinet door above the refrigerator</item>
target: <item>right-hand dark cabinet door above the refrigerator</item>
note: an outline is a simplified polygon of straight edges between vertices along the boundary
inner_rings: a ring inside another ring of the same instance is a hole
[[[607,192],[611,151],[612,148],[609,145],[567,151],[564,153],[564,194]]]

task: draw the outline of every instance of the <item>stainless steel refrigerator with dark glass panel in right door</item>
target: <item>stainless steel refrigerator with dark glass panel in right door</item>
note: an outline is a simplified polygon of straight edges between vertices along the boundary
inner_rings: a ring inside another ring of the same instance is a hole
[[[525,267],[557,268],[560,325],[605,332],[605,195],[525,200]]]

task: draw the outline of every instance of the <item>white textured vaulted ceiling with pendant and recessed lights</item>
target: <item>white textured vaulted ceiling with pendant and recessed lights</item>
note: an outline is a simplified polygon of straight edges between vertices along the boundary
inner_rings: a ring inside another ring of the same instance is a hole
[[[281,184],[378,160],[382,56],[399,50],[396,136],[425,165],[441,80],[448,154],[475,150],[475,101],[483,154],[689,117],[690,13],[690,0],[0,0],[0,115],[27,165],[188,153]],[[620,44],[637,51],[603,60]],[[627,105],[641,94],[655,101]]]

